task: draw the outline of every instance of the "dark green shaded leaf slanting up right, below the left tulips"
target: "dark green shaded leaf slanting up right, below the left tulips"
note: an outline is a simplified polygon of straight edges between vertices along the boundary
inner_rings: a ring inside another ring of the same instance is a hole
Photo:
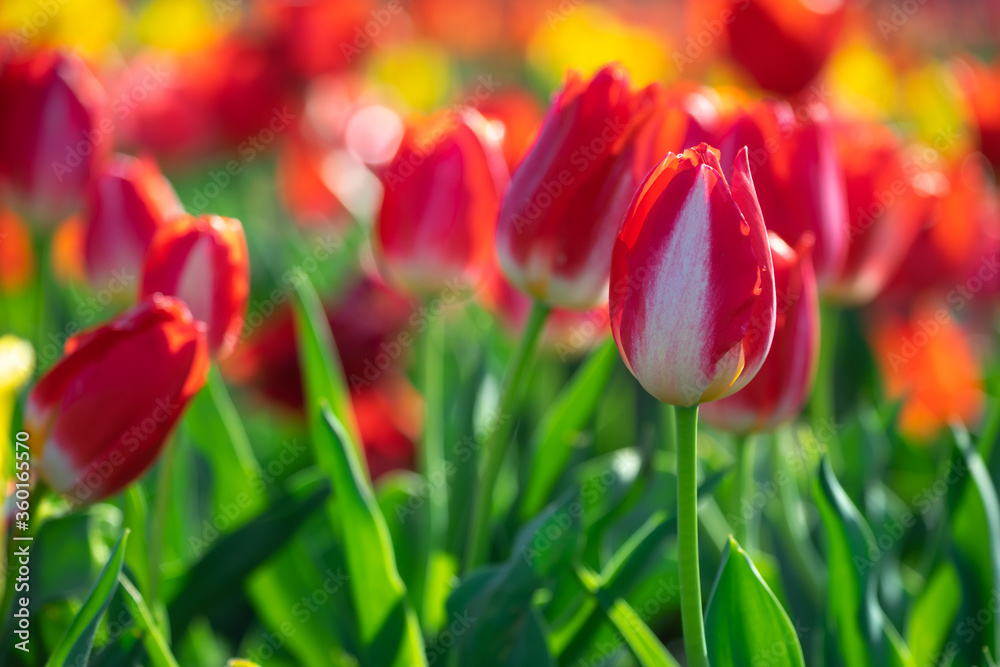
[[[330,495],[324,482],[297,489],[274,502],[259,516],[219,537],[187,573],[168,607],[175,639],[188,623],[226,595],[238,593],[244,580],[270,558]]]

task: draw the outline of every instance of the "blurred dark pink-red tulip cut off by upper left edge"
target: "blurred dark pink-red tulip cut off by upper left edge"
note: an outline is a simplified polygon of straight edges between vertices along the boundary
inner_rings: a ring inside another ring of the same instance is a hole
[[[72,212],[111,149],[107,96],[80,57],[42,51],[0,69],[0,184],[32,219]]]

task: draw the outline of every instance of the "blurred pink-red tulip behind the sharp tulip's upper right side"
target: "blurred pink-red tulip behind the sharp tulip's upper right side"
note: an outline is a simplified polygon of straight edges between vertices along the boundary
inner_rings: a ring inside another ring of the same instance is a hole
[[[825,285],[843,266],[848,239],[844,176],[829,114],[802,107],[797,117],[785,102],[752,104],[730,119],[719,139],[724,161],[744,146],[764,224],[792,246],[812,236],[816,275]]]

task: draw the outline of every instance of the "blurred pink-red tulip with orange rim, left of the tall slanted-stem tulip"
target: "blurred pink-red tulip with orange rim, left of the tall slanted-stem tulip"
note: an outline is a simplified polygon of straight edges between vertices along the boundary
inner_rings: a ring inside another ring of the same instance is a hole
[[[492,256],[507,182],[487,121],[466,110],[413,123],[380,178],[375,248],[386,277],[424,295],[476,286]]]

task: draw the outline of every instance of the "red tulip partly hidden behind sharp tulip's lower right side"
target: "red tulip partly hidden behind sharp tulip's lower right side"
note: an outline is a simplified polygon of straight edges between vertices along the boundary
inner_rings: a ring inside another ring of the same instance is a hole
[[[771,351],[747,386],[701,412],[709,424],[734,433],[771,431],[794,419],[809,396],[819,358],[819,293],[809,239],[798,252],[774,233],[768,240],[778,304]]]

